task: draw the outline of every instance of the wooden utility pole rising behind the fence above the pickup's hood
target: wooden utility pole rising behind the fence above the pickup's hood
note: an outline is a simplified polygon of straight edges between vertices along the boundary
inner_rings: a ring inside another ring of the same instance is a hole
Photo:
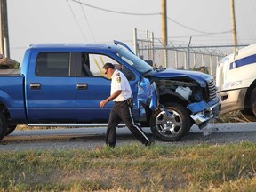
[[[164,67],[166,68],[167,64],[167,9],[166,9],[166,0],[162,0],[162,44],[164,46]]]

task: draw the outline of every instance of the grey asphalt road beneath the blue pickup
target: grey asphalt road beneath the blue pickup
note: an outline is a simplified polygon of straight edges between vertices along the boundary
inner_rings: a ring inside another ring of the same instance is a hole
[[[149,128],[143,128],[152,137]],[[105,143],[106,127],[97,128],[62,128],[53,130],[15,130],[0,142],[0,151],[10,150],[57,150],[76,148],[98,148]],[[237,143],[241,141],[256,141],[256,123],[208,124],[209,135],[204,136],[198,127],[193,126],[185,137],[177,142],[157,144],[185,145],[193,143]],[[131,142],[138,142],[127,128],[117,129],[116,147]]]

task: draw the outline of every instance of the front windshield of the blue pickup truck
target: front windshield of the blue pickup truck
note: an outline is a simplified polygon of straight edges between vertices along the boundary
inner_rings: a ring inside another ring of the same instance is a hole
[[[142,75],[153,70],[153,68],[148,65],[147,62],[141,60],[139,57],[132,54],[132,52],[128,52],[125,49],[121,49],[119,52],[117,52],[117,56],[131,65],[132,68],[135,68]]]

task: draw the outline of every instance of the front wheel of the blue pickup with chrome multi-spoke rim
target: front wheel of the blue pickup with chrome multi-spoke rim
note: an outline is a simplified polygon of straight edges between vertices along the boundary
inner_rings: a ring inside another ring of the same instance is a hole
[[[150,118],[151,131],[160,140],[180,140],[191,127],[188,110],[178,103],[167,103],[164,106],[171,116],[167,116],[164,111],[157,111]]]

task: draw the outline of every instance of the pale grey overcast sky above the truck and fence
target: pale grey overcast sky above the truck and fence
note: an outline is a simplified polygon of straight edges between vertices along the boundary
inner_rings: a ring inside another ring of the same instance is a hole
[[[81,4],[79,4],[81,3]],[[11,58],[29,44],[109,43],[132,46],[133,28],[161,41],[161,0],[8,0]],[[256,43],[256,0],[235,0],[238,44]],[[141,15],[140,15],[141,14]],[[232,44],[230,0],[167,0],[168,42]]]

